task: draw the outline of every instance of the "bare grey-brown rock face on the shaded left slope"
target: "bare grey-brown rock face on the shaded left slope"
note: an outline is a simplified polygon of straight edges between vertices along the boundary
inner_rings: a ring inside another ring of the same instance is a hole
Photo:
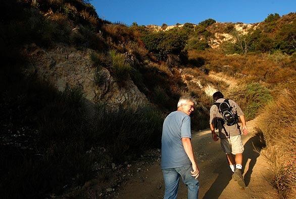
[[[123,105],[136,107],[148,103],[131,80],[120,86],[107,69],[103,68],[106,81],[97,85],[94,82],[95,67],[89,53],[92,50],[78,50],[66,45],[56,45],[42,49],[35,44],[26,46],[25,53],[30,57],[30,67],[26,74],[37,73],[63,91],[66,85],[80,87],[86,99],[91,102],[104,102],[111,106]]]

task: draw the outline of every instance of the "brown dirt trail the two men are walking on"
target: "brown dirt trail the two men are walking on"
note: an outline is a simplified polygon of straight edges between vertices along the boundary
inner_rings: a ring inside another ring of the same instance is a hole
[[[254,137],[254,120],[247,123],[250,134],[242,136],[244,144],[243,169],[246,188],[242,190],[231,179],[231,170],[223,154],[220,141],[214,142],[210,130],[194,132],[192,143],[200,168],[199,198],[278,198],[271,185],[271,168],[267,159],[260,155],[259,138]],[[256,149],[255,149],[256,148]],[[162,198],[163,175],[160,161],[138,172],[115,198]],[[187,188],[180,181],[178,198],[187,198]]]

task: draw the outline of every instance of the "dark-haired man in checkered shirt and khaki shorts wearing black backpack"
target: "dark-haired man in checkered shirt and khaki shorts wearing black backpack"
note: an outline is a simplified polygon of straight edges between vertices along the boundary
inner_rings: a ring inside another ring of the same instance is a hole
[[[243,135],[248,134],[244,114],[240,107],[233,101],[224,99],[223,94],[217,91],[213,94],[216,101],[210,109],[210,128],[212,138],[216,142],[221,139],[221,147],[225,152],[229,166],[233,172],[232,177],[241,187],[245,187],[242,177],[242,152],[241,130],[238,117],[242,123]],[[219,129],[219,137],[215,133],[215,126]]]

